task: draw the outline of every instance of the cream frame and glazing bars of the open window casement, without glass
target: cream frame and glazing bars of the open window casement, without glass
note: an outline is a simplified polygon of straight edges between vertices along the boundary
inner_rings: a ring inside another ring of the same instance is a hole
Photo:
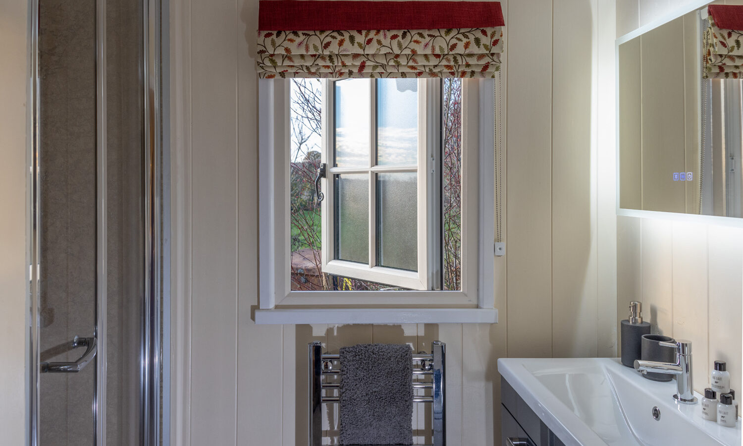
[[[326,175],[322,179],[322,190],[325,200],[322,201],[322,272],[351,279],[410,288],[429,290],[440,282],[438,256],[441,242],[429,243],[432,237],[438,237],[441,215],[439,213],[441,195],[438,190],[439,146],[441,145],[441,82],[440,80],[423,79],[418,82],[418,164],[410,166],[377,166],[377,87],[371,82],[369,163],[366,167],[346,168],[332,167],[334,161],[334,83],[337,80],[322,80],[322,156]],[[383,172],[416,172],[418,174],[418,271],[406,271],[397,268],[377,266],[377,190],[375,175]],[[335,226],[334,226],[334,175],[343,173],[363,173],[369,175],[369,262],[334,259]]]

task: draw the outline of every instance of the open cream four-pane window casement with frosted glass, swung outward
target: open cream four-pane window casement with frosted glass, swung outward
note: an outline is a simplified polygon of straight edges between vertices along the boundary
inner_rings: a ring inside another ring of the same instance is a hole
[[[441,289],[441,80],[322,84],[322,272]]]

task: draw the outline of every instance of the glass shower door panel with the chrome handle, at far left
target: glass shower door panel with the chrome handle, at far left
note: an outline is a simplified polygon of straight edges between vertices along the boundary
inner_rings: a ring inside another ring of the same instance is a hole
[[[38,441],[94,445],[97,358],[72,364],[97,338],[95,0],[40,0],[38,54]]]

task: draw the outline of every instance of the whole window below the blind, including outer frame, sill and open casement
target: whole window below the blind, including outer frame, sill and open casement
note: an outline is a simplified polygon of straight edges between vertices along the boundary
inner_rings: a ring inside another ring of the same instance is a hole
[[[259,91],[256,322],[495,322],[492,80]]]

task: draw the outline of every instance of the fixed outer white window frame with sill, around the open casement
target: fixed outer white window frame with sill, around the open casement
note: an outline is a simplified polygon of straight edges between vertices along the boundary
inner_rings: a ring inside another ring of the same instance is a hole
[[[464,214],[459,291],[291,290],[290,85],[289,80],[259,80],[259,308],[255,311],[256,323],[497,322],[498,311],[493,308],[493,81],[463,80],[462,84]],[[327,183],[325,193],[330,192]]]

